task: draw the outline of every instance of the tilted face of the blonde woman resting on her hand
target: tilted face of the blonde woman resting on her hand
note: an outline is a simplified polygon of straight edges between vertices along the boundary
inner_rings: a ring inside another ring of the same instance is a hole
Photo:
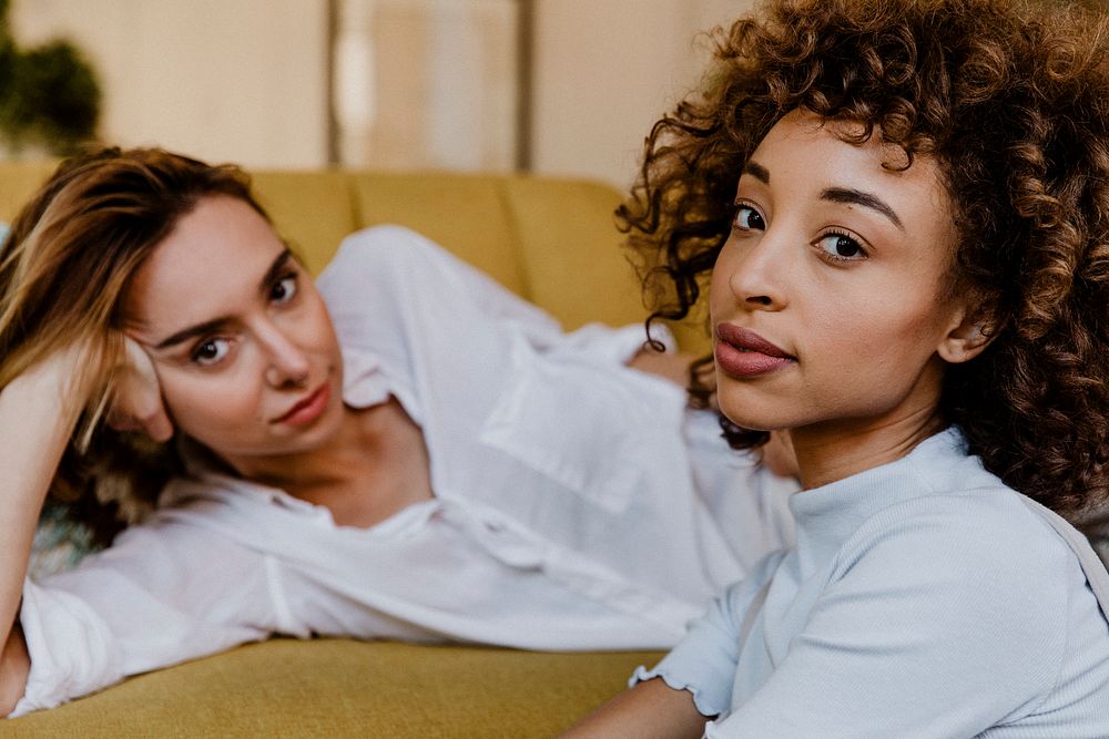
[[[227,462],[311,451],[343,414],[343,362],[309,276],[246,203],[201,199],[125,296],[180,431]]]

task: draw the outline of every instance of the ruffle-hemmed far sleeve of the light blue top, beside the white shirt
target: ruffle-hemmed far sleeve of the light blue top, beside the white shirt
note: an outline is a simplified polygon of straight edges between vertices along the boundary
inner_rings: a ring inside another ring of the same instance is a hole
[[[732,585],[689,625],[685,637],[654,669],[635,670],[630,685],[655,677],[674,690],[689,690],[702,716],[728,712],[735,667],[743,645],[739,635],[747,609],[782,561],[784,552],[767,555],[751,574]]]

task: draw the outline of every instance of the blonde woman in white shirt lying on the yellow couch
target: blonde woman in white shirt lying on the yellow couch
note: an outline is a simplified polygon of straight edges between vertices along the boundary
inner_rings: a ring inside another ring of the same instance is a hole
[[[642,341],[399,228],[317,287],[234,167],[64,163],[0,261],[0,710],[273,634],[675,643],[786,537],[790,483],[625,367],[680,362]],[[104,540],[152,511],[35,582],[48,495]]]

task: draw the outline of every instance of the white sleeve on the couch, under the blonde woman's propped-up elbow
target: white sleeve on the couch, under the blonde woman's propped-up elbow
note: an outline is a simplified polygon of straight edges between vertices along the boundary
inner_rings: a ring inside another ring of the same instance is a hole
[[[28,579],[31,671],[12,717],[277,630],[265,556],[187,526],[142,525],[69,573]]]

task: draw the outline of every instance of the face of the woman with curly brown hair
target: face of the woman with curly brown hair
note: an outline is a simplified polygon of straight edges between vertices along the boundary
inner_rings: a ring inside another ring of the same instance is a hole
[[[935,162],[907,170],[795,111],[745,166],[712,274],[721,410],[749,429],[837,434],[919,417],[957,357],[964,304],[946,299],[953,211]],[[893,168],[883,167],[883,164]]]

